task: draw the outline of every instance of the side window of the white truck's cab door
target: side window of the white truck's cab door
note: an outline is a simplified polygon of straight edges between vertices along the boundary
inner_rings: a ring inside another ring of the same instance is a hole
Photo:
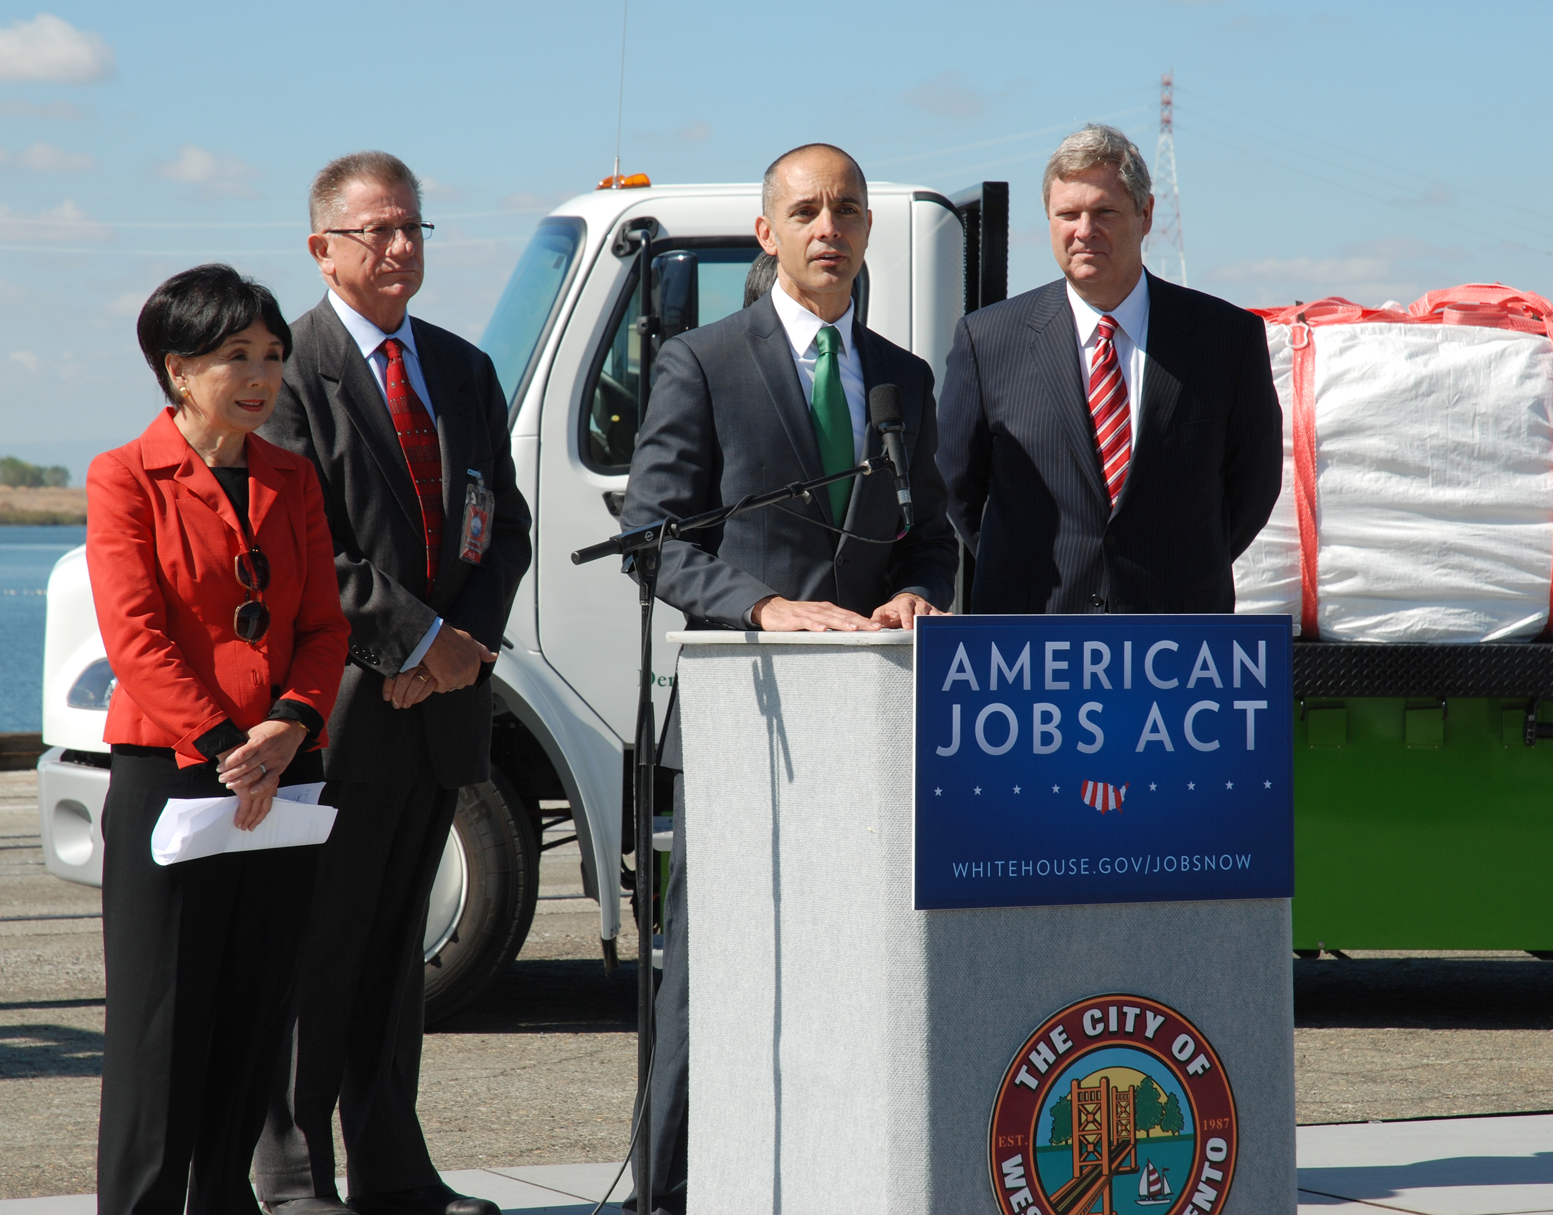
[[[710,325],[736,312],[744,303],[744,278],[759,253],[753,238],[722,241],[665,241],[655,253],[690,249],[696,255],[696,289],[699,297],[697,325]],[[627,280],[615,306],[607,343],[595,354],[595,371],[589,379],[587,409],[582,415],[582,463],[595,472],[620,475],[631,471],[631,454],[637,449],[637,384],[641,371],[641,336],[637,317],[641,292],[637,275]]]

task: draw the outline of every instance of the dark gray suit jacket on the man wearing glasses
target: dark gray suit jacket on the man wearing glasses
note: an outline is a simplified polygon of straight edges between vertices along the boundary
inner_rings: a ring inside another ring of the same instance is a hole
[[[444,789],[491,771],[489,667],[474,687],[435,693],[415,708],[382,699],[436,617],[489,649],[502,645],[517,583],[530,561],[528,505],[517,489],[506,398],[489,356],[457,334],[412,319],[415,346],[443,446],[443,552],[426,594],[421,503],[371,368],[325,298],[292,325],[275,413],[259,433],[318,469],[334,533],[340,606],[351,623],[349,665],[329,718],[329,780],[394,775],[424,736]],[[464,486],[477,469],[495,494],[491,547],[480,566],[458,558]]]

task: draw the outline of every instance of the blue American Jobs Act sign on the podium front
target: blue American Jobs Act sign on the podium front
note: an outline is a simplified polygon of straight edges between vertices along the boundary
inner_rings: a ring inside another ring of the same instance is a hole
[[[1294,895],[1286,615],[916,620],[919,909]]]

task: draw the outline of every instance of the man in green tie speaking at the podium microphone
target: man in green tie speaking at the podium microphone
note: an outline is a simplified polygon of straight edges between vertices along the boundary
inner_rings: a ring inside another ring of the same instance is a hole
[[[933,463],[933,373],[856,315],[853,281],[871,224],[868,183],[840,148],[812,143],[772,163],[755,235],[778,259],[776,284],[742,312],[663,343],[621,524],[685,519],[877,455],[868,424],[877,384],[901,390],[916,524],[895,539],[901,516],[885,472],[741,514],[697,542],[668,541],[658,598],[693,629],[909,629],[949,606],[957,548]],[[680,768],[677,705],[660,763]],[[683,811],[676,777],[652,1066],[655,1195],[640,1206],[671,1215],[685,1210],[690,1077]]]

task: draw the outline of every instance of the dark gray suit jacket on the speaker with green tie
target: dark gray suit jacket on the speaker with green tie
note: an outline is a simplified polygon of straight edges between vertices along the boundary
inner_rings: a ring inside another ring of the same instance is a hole
[[[944,516],[944,483],[933,465],[938,424],[932,368],[862,325],[853,336],[863,384],[896,384],[905,413],[916,527],[893,544],[867,544],[826,531],[836,525],[829,496],[789,502],[731,519],[699,539],[663,545],[658,598],[683,611],[691,628],[747,628],[745,614],[767,595],[829,600],[868,615],[902,590],[947,608],[957,548]],[[868,429],[865,457],[882,451]],[[691,514],[825,475],[809,404],[792,362],[787,332],[770,295],[741,312],[666,342],[652,402],[637,437],[621,524]],[[887,472],[859,477],[845,527],[888,541],[899,507]]]

